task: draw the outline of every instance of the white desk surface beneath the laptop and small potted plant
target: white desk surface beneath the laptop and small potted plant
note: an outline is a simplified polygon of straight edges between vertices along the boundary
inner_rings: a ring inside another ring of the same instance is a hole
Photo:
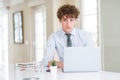
[[[56,76],[52,76],[50,72],[32,73],[33,71],[21,74],[19,71],[11,69],[10,80],[23,80],[23,77],[39,77],[40,80],[120,80],[120,73],[114,72],[81,72],[81,73],[63,73],[58,71]]]

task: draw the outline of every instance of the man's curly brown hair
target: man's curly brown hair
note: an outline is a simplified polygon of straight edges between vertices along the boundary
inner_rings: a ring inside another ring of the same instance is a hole
[[[65,4],[63,6],[61,6],[58,11],[57,11],[57,17],[58,19],[62,19],[63,16],[67,16],[67,17],[74,17],[74,18],[78,18],[80,12],[79,10],[74,6],[74,5],[70,5],[70,4]]]

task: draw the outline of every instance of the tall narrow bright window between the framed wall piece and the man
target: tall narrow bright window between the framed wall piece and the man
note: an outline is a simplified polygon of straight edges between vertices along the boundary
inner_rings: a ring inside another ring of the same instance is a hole
[[[45,6],[40,5],[34,8],[35,22],[35,59],[42,61],[46,44],[46,15]]]

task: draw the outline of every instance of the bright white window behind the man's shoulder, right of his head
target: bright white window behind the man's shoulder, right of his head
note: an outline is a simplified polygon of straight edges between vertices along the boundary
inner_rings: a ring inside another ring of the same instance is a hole
[[[98,7],[97,0],[81,0],[81,26],[92,34],[93,40],[98,43]]]

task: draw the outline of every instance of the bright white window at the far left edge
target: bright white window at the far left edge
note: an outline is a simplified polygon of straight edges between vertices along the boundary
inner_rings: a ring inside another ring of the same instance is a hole
[[[0,73],[3,80],[7,80],[8,77],[5,77],[8,76],[8,13],[6,9],[0,9]]]

